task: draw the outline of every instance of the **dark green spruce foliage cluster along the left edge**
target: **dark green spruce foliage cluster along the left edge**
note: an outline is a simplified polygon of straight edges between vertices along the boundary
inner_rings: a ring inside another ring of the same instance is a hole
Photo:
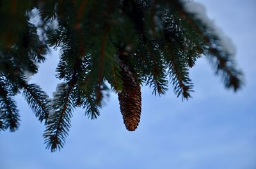
[[[47,118],[49,101],[46,94],[38,85],[28,84],[24,75],[37,73],[36,64],[45,61],[47,46],[39,40],[37,28],[29,23],[27,11],[31,2],[12,4],[1,1],[0,4],[0,15],[10,21],[0,29],[0,126],[15,131],[19,127],[19,111],[13,96],[20,91],[36,117],[41,122]],[[1,17],[1,24],[6,22],[4,18]]]

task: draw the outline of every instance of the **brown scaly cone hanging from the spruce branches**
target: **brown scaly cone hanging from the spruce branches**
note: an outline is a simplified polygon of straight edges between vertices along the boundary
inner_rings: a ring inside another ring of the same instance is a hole
[[[118,92],[120,110],[123,115],[127,130],[134,131],[140,122],[141,114],[141,91],[140,85],[136,84],[129,67],[120,62],[123,89]]]

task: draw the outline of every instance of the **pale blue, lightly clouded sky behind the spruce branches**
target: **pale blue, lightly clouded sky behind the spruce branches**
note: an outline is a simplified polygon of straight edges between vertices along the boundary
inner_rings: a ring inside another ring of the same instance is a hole
[[[207,15],[236,45],[236,61],[246,85],[234,93],[225,89],[211,65],[199,59],[191,69],[193,98],[181,101],[170,86],[165,96],[142,88],[141,122],[125,129],[115,94],[106,99],[98,119],[77,109],[61,151],[45,149],[40,124],[21,96],[20,128],[0,133],[1,169],[51,168],[256,168],[256,1],[198,0]],[[49,96],[60,83],[55,77],[58,52],[52,50],[31,83]]]

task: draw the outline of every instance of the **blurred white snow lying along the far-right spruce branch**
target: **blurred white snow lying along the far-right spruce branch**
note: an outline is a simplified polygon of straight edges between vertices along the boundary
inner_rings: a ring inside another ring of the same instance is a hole
[[[198,19],[202,20],[202,22],[204,22],[204,24],[206,24],[209,27],[209,29],[213,31],[213,33],[216,36],[218,36],[218,38],[220,39],[220,45],[223,47],[223,50],[225,52],[227,52],[230,55],[236,54],[236,47],[233,41],[223,33],[220,27],[216,26],[214,20],[210,19],[207,16],[203,4],[195,3],[193,1],[186,1],[185,9],[189,13],[194,13]]]

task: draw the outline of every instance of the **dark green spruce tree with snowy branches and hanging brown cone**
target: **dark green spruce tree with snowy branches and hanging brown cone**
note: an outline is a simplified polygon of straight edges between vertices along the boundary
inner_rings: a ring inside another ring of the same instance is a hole
[[[0,129],[15,131],[22,92],[40,122],[51,151],[63,147],[76,107],[96,119],[104,93],[116,92],[125,126],[140,122],[141,85],[191,98],[189,68],[207,57],[225,87],[240,89],[243,74],[234,53],[205,19],[184,1],[0,1]],[[54,97],[28,75],[45,61],[49,47],[60,49]]]

